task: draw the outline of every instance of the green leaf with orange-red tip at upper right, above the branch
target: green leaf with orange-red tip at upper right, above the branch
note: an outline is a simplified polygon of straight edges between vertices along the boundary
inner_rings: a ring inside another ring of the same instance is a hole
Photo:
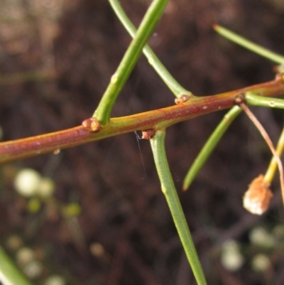
[[[214,25],[214,30],[220,35],[224,36],[224,38],[227,38],[230,41],[251,50],[253,53],[263,56],[263,58],[268,58],[269,60],[272,60],[280,65],[284,64],[284,57],[282,55],[278,55],[278,53],[273,53],[271,50],[263,48],[261,45],[257,45],[256,43],[253,43],[222,26]]]

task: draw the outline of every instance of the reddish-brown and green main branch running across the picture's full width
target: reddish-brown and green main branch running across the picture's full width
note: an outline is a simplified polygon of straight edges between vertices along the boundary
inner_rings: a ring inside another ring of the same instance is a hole
[[[284,93],[283,75],[278,75],[275,80],[259,85],[207,97],[192,95],[187,102],[163,109],[155,109],[126,117],[111,118],[109,124],[96,133],[82,125],[49,134],[31,136],[26,139],[4,141],[0,143],[0,163],[46,154],[91,141],[106,139],[110,136],[126,134],[131,131],[165,129],[187,119],[233,107],[235,98],[240,93],[248,91],[261,96],[281,95]]]

